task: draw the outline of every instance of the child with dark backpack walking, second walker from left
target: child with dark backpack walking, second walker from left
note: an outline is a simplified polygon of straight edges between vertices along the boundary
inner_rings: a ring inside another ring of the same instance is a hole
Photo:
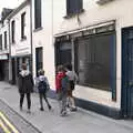
[[[49,110],[51,110],[51,105],[47,99],[47,92],[50,89],[49,82],[48,82],[48,78],[44,76],[44,71],[40,70],[39,71],[39,79],[38,79],[38,90],[39,90],[39,96],[40,96],[40,111],[44,111],[43,109],[43,102],[42,99],[44,98],[45,103],[49,108]]]

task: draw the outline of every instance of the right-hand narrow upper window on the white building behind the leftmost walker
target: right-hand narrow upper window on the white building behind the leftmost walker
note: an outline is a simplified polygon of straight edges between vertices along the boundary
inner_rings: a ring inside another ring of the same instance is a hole
[[[21,39],[25,39],[25,12],[21,14]]]

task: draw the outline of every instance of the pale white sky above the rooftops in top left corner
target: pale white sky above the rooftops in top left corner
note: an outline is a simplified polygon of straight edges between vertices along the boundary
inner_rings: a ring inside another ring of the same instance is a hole
[[[0,12],[2,8],[16,8],[18,7],[23,0],[0,0]]]

